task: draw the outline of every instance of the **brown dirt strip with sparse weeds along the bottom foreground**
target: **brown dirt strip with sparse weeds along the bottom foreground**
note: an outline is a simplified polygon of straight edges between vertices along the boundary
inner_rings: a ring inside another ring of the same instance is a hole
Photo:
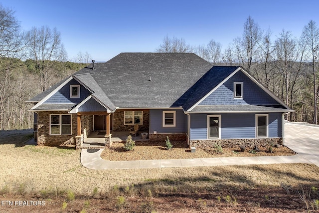
[[[300,189],[299,189],[300,190]],[[318,194],[313,193],[307,200],[309,210],[317,212],[318,207],[312,202]],[[15,206],[14,201],[21,201],[18,196],[0,196],[0,200],[12,201],[13,205],[4,205],[0,211],[20,212],[119,212],[119,213],[237,213],[237,212],[306,212],[307,206],[300,199],[298,191],[287,194],[283,188],[271,189],[216,189],[195,193],[166,193],[149,196],[106,194],[93,198],[76,197],[68,201],[65,197],[43,199],[35,196],[24,196],[22,201],[40,201],[37,206]],[[63,204],[64,203],[64,204]],[[36,203],[35,203],[36,204]],[[44,204],[44,205],[43,205]]]

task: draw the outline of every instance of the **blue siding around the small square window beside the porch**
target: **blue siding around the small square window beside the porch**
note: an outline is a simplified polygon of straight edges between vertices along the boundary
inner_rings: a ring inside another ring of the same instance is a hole
[[[176,111],[175,127],[163,127],[162,112]],[[151,109],[150,110],[150,133],[186,133],[187,118],[182,109]]]

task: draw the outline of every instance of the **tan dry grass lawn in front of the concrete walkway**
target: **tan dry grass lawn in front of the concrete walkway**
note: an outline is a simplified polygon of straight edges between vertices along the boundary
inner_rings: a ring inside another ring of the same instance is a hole
[[[152,187],[155,194],[228,187],[272,188],[282,184],[317,186],[319,180],[319,168],[307,164],[89,170],[81,166],[79,150],[23,146],[20,142],[27,134],[14,135],[15,141],[10,141],[8,135],[10,140],[5,140],[3,131],[0,136],[2,193],[71,190],[77,196],[92,195],[96,188],[98,195],[104,195],[115,185],[125,189],[134,184],[140,189]]]

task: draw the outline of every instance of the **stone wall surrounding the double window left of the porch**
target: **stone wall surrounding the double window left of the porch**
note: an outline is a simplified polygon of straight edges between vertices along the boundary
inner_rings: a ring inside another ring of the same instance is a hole
[[[61,112],[38,112],[38,145],[59,146],[75,145],[75,136],[77,135],[77,117],[72,114],[72,135],[50,135],[50,114],[68,114]]]

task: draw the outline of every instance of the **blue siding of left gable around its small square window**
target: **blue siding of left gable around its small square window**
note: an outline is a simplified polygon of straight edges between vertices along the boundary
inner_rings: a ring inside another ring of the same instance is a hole
[[[80,85],[80,97],[79,98],[70,98],[70,85]],[[59,91],[53,94],[48,100],[46,100],[45,104],[70,104],[70,103],[80,103],[85,98],[87,98],[91,92],[87,90],[84,86],[82,86],[75,79],[69,81],[66,85],[64,85]]]

